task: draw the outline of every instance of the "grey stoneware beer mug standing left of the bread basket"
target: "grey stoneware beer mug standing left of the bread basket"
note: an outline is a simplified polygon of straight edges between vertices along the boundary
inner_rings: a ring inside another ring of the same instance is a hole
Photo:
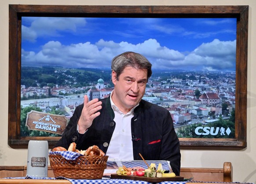
[[[47,177],[48,141],[29,141],[27,176]]]

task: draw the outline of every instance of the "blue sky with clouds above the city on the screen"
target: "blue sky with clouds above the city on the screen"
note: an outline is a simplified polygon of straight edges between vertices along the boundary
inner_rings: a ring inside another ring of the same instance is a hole
[[[110,68],[125,51],[153,69],[235,71],[235,18],[22,17],[22,65]]]

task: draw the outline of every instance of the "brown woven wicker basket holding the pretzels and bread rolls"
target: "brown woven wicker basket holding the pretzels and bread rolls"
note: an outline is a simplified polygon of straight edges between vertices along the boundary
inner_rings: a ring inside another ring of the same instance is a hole
[[[49,155],[54,176],[72,179],[101,179],[107,159],[108,156],[80,156],[66,160],[61,155]]]

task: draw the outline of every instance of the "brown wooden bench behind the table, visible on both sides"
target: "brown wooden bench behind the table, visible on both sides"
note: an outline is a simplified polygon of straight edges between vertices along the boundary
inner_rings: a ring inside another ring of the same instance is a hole
[[[25,177],[27,166],[0,166],[0,178]],[[232,182],[232,164],[224,162],[223,168],[181,168],[180,176],[193,177],[193,181]],[[48,177],[54,177],[48,166]]]

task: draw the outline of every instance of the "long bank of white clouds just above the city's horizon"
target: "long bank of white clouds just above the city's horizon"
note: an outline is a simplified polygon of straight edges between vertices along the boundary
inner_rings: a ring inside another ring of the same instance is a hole
[[[155,69],[234,70],[235,43],[236,40],[213,40],[184,55],[179,51],[161,47],[155,39],[138,44],[99,40],[95,44],[86,42],[67,46],[58,41],[50,41],[38,53],[22,50],[22,64],[110,68],[113,57],[125,51],[134,51],[148,58]]]

